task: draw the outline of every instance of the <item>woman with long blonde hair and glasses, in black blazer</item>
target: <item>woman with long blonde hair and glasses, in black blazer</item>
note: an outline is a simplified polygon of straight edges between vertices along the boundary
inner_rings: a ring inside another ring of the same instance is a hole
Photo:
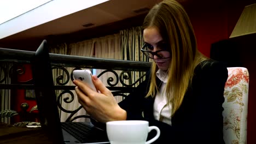
[[[75,80],[79,102],[103,123],[149,121],[161,130],[155,143],[224,143],[222,104],[228,70],[197,50],[189,17],[176,1],[155,5],[143,28],[145,44],[141,51],[154,62],[138,91],[117,104],[93,76],[101,94]]]

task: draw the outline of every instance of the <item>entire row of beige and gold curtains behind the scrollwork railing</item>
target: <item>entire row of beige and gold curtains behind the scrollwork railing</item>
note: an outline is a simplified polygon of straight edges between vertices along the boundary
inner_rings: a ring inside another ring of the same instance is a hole
[[[148,62],[148,59],[140,52],[140,48],[142,44],[143,44],[142,27],[133,27],[130,29],[125,29],[123,31],[120,31],[120,33],[118,34],[107,35],[105,37],[94,38],[94,39],[80,41],[78,43],[69,44],[68,53],[74,56],[94,57],[94,54],[95,54],[95,57],[97,58],[124,59],[129,61]],[[60,52],[62,51],[60,47],[66,50],[66,45],[65,45],[65,46],[59,46],[59,49],[53,49],[53,52],[63,54]],[[69,74],[71,74],[71,71],[73,70],[73,68],[67,68],[67,70],[69,71]],[[104,70],[97,69],[96,75],[102,73],[102,71]],[[116,71],[116,72],[118,73],[118,75],[120,75],[121,73],[121,71]],[[140,77],[142,74],[143,73],[139,73],[139,72],[132,73],[132,80],[128,82],[131,84],[132,81],[137,80],[138,77]],[[115,81],[117,80],[115,79],[116,77],[114,76],[113,73],[111,72],[105,73],[100,77],[100,80],[104,83],[105,86],[109,86],[107,83],[108,77],[114,78],[113,83],[115,83]],[[69,80],[69,82],[67,83],[67,86],[73,86],[73,85],[74,85],[73,82]],[[121,86],[121,84],[118,84],[117,86]],[[66,104],[65,102],[62,101],[62,107],[65,108],[66,110],[75,110],[80,106],[77,100],[77,95],[75,94],[74,91],[72,91],[72,93],[75,96],[72,103]],[[62,99],[65,97],[70,97],[70,95],[68,94],[63,95]],[[121,97],[116,97],[115,99],[118,102],[123,100],[123,98]],[[61,111],[61,121],[62,122],[66,121],[69,115],[70,115],[69,113]],[[78,116],[78,115],[86,115],[85,110],[81,109],[74,116]],[[84,118],[79,118],[75,120],[75,122],[84,122],[84,121],[88,121],[88,120]]]

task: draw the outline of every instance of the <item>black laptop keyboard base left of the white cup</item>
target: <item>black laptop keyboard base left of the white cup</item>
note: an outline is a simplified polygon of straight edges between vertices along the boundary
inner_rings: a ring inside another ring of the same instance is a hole
[[[108,141],[106,131],[98,129],[88,123],[63,122],[61,123],[61,127],[82,143]]]

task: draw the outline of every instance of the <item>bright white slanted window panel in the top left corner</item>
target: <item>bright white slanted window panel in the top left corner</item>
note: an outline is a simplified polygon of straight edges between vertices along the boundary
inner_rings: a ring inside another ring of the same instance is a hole
[[[0,0],[0,39],[106,1]]]

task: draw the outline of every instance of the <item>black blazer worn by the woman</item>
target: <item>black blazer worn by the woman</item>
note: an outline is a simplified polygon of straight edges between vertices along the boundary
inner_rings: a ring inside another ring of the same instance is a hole
[[[119,103],[127,112],[127,120],[146,120],[149,125],[157,126],[161,134],[155,143],[224,143],[222,104],[228,70],[212,60],[203,63],[206,63],[203,67],[202,63],[196,67],[182,105],[172,116],[172,125],[155,120],[154,98],[144,98],[150,74],[135,92]],[[152,136],[155,136],[155,131],[150,132],[148,138]]]

